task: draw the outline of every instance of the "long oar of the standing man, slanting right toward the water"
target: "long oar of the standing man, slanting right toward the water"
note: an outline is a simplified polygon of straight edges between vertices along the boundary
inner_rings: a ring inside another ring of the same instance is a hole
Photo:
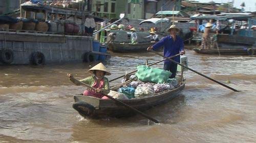
[[[160,54],[160,53],[158,53],[158,52],[156,52],[156,51],[154,51],[154,50],[151,50],[151,52],[154,52],[155,54],[160,55],[160,56],[162,56],[163,58],[165,58],[165,59],[167,59],[167,60],[169,60],[169,61],[171,61],[171,62],[174,62],[174,63],[176,63],[176,64],[178,64],[178,65],[180,65],[180,66],[182,66],[182,67],[184,67],[184,68],[186,68],[186,69],[188,69],[188,70],[190,70],[190,71],[193,71],[193,72],[195,72],[195,73],[197,73],[197,74],[199,74],[199,75],[201,75],[201,76],[203,76],[203,77],[205,77],[205,78],[208,78],[208,79],[210,79],[211,81],[214,81],[214,82],[216,82],[216,83],[218,83],[218,84],[221,84],[222,86],[224,86],[224,87],[226,87],[226,88],[228,88],[228,89],[230,89],[230,90],[232,90],[232,91],[234,91],[234,92],[239,92],[238,90],[235,90],[235,89],[233,89],[233,88],[231,88],[231,87],[228,87],[228,85],[226,85],[226,84],[223,84],[223,83],[221,83],[221,82],[219,82],[219,81],[217,81],[217,80],[215,80],[215,79],[212,79],[212,78],[210,78],[210,77],[208,77],[208,76],[206,76],[206,75],[204,75],[204,74],[202,74],[202,73],[199,73],[199,72],[197,72],[197,71],[195,71],[195,70],[193,70],[193,69],[190,69],[190,68],[188,68],[187,66],[184,66],[184,65],[182,65],[182,64],[180,64],[180,63],[178,63],[178,62],[176,62],[176,61],[174,61],[174,60],[172,60],[172,59],[169,59],[169,58],[167,58],[166,56],[164,56],[164,55],[162,55],[162,54]]]

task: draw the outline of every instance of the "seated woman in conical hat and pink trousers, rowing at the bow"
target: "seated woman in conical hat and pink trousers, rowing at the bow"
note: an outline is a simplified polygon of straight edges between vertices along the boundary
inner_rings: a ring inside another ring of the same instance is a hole
[[[96,66],[92,67],[88,71],[94,75],[81,79],[80,81],[95,88],[96,91],[92,89],[88,89],[83,92],[83,95],[93,96],[93,97],[102,98],[102,99],[108,99],[108,97],[103,95],[103,94],[110,93],[109,80],[108,78],[105,77],[105,75],[111,75],[111,73],[106,69],[106,67],[102,63],[97,64]],[[80,85],[80,83],[77,83],[75,80],[73,80],[74,77],[72,74],[68,73],[67,76],[70,78],[70,80],[73,83],[75,83],[76,85]]]

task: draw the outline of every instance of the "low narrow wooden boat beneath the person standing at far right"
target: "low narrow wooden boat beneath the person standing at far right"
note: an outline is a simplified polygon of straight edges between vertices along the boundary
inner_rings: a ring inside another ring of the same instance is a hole
[[[222,54],[222,55],[253,55],[256,49],[201,49],[193,48],[196,53],[201,54]]]

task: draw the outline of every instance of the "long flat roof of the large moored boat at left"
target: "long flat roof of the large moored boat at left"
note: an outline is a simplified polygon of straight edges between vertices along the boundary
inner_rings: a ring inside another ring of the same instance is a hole
[[[49,12],[49,13],[57,13],[57,14],[67,14],[67,15],[77,15],[82,16],[82,12],[77,9],[71,8],[61,8],[61,7],[53,7],[50,5],[42,5],[42,4],[30,4],[24,3],[20,5],[24,10],[33,11],[33,12]],[[88,15],[89,12],[86,13]]]

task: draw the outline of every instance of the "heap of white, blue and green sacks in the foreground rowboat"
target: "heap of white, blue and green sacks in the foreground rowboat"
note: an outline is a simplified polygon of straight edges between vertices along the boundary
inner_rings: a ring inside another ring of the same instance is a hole
[[[148,66],[138,66],[138,72],[135,76],[137,81],[132,81],[128,85],[118,89],[114,98],[117,99],[131,99],[136,97],[143,97],[148,95],[154,95],[156,93],[163,92],[165,90],[172,90],[178,85],[176,78],[169,79],[172,74],[169,71],[165,71],[158,68],[150,68]],[[131,76],[130,78],[133,78]],[[178,79],[179,80],[179,79]],[[112,96],[113,92],[109,95]]]

